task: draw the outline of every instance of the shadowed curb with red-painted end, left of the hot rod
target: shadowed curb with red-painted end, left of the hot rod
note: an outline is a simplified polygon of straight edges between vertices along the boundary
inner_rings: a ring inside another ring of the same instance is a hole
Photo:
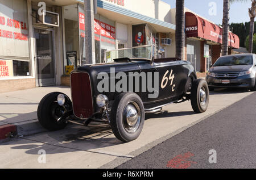
[[[6,143],[15,137],[30,136],[46,132],[38,120],[29,120],[21,123],[0,125],[0,143]]]

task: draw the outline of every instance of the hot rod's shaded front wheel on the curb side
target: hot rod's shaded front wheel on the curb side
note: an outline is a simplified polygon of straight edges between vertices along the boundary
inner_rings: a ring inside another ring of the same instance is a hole
[[[49,131],[57,131],[66,127],[65,121],[58,122],[58,120],[65,114],[67,110],[57,103],[57,96],[59,92],[47,94],[39,103],[38,106],[38,120],[42,127]],[[67,102],[71,103],[71,102]],[[72,104],[71,104],[72,106]]]

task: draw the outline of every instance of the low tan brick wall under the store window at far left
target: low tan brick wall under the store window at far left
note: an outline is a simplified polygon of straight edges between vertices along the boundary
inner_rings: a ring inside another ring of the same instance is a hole
[[[35,87],[35,78],[0,80],[0,87],[0,93],[32,89]]]

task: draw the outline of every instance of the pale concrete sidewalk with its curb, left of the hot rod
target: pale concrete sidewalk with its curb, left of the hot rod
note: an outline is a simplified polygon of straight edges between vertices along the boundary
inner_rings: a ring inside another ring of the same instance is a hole
[[[44,132],[37,118],[37,108],[48,93],[58,91],[71,96],[69,87],[51,86],[0,94],[0,143],[8,136],[26,136]]]

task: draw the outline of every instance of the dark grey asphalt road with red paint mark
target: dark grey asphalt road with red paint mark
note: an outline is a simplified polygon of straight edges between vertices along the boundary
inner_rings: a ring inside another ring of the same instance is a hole
[[[256,93],[117,168],[256,168]]]

